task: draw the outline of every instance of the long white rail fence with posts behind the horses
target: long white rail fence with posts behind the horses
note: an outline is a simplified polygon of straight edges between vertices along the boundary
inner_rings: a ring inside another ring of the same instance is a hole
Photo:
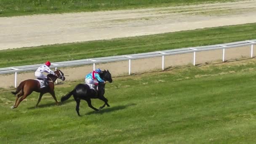
[[[143,58],[162,56],[162,69],[164,70],[165,56],[176,55],[181,53],[194,53],[193,64],[195,66],[196,52],[222,49],[223,50],[222,61],[225,61],[224,59],[225,49],[251,45],[251,58],[252,58],[254,44],[256,44],[256,40],[246,40],[246,41],[240,41],[235,43],[225,43],[225,44],[219,44],[219,45],[208,45],[208,46],[191,47],[191,48],[180,48],[180,49],[167,50],[167,51],[156,51],[156,52],[149,52],[149,53],[123,55],[123,56],[109,56],[109,57],[102,57],[102,58],[95,58],[95,59],[82,59],[82,60],[75,60],[75,61],[62,61],[62,62],[52,63],[51,68],[56,69],[58,67],[70,67],[70,66],[79,66],[79,65],[85,65],[85,64],[93,64],[93,70],[95,70],[95,64],[97,63],[128,60],[129,61],[128,74],[131,75],[131,60],[133,59],[143,59]],[[19,67],[0,68],[0,74],[15,73],[14,85],[16,88],[18,72],[36,70],[41,65],[42,64],[34,64],[34,65],[19,66]]]

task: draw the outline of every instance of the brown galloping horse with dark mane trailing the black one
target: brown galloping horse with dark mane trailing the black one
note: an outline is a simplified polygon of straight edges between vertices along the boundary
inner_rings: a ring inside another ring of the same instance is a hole
[[[56,104],[58,105],[59,102],[57,101],[55,92],[54,92],[54,82],[57,80],[57,78],[64,81],[65,77],[64,77],[63,72],[61,72],[61,70],[59,70],[59,69],[57,69],[54,73],[57,74],[57,76],[52,75],[52,74],[47,75],[47,81],[48,81],[49,85],[44,88],[40,88],[40,83],[37,80],[29,79],[29,80],[24,80],[23,82],[21,82],[19,84],[19,86],[16,88],[16,92],[13,92],[13,91],[11,92],[14,95],[19,93],[18,95],[16,95],[15,103],[11,108],[12,109],[17,108],[19,106],[19,104],[21,103],[21,101],[26,99],[26,97],[29,96],[33,91],[40,93],[36,107],[38,106],[43,94],[45,94],[45,93],[50,93],[53,96],[53,99],[56,101]],[[19,101],[18,101],[18,99],[19,99]]]

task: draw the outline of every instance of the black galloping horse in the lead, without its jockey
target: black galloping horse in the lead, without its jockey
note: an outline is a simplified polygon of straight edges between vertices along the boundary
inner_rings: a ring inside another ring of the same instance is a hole
[[[107,71],[104,70],[99,75],[102,78],[102,80],[112,83],[112,78],[111,78],[111,74],[110,74],[109,70],[107,70]],[[99,83],[98,93],[96,93],[96,91],[94,91],[93,89],[90,89],[90,87],[88,85],[80,83],[80,84],[76,85],[76,87],[71,92],[69,92],[67,95],[62,96],[61,101],[66,101],[73,95],[75,101],[77,102],[77,107],[76,107],[77,115],[80,116],[79,105],[80,105],[81,99],[87,101],[88,106],[91,107],[92,109],[94,109],[95,111],[99,111],[99,109],[104,108],[106,105],[107,105],[107,107],[110,107],[109,104],[107,103],[108,100],[104,97],[104,93],[105,93],[105,83]],[[99,109],[96,109],[95,107],[93,107],[91,105],[91,99],[100,99],[100,100],[104,101],[105,103],[103,106],[99,107]]]

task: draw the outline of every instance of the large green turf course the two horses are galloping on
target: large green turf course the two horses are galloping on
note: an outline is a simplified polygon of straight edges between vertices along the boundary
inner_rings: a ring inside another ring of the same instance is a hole
[[[5,143],[253,143],[256,139],[256,60],[222,66],[114,78],[105,96],[111,107],[80,114],[70,98],[55,106],[38,93],[10,109],[14,96],[0,92],[0,141]],[[82,81],[82,80],[81,80]],[[56,95],[79,82],[56,86]],[[63,87],[66,86],[66,87]],[[102,101],[93,100],[99,107]]]

